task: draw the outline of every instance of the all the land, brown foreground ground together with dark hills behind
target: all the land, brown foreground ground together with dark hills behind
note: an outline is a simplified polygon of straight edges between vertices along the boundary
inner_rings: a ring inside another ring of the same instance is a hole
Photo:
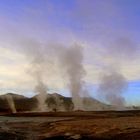
[[[44,112],[36,96],[1,95],[0,140],[140,139],[139,108],[118,111],[95,99],[82,100],[83,110],[75,110],[71,98],[48,94]]]

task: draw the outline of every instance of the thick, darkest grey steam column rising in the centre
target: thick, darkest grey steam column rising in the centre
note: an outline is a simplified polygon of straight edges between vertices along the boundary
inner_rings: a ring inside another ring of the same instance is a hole
[[[61,65],[68,76],[68,87],[72,94],[75,110],[83,109],[83,78],[86,74],[83,67],[83,49],[79,45],[61,48]]]

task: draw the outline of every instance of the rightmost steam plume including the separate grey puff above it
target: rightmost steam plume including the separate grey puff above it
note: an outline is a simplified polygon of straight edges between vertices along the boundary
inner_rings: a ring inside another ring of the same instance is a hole
[[[102,71],[99,95],[117,109],[123,109],[125,100],[122,94],[127,89],[127,80],[121,73],[122,61],[133,60],[136,49],[137,45],[131,39],[120,38],[110,44],[107,50],[112,62],[107,64],[107,71]]]

